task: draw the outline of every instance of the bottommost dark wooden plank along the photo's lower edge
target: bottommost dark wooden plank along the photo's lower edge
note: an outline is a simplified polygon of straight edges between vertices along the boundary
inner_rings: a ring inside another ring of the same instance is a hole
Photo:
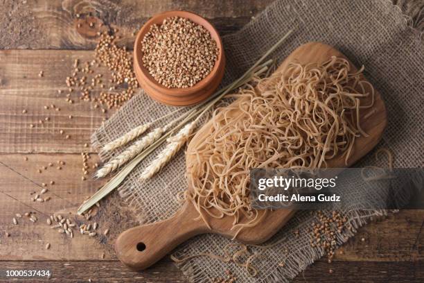
[[[60,282],[188,282],[169,261],[162,259],[147,271],[135,272],[118,261],[0,261],[0,282],[10,282],[6,270],[50,270],[51,280]],[[333,273],[329,270],[332,269]],[[222,277],[225,277],[222,271]],[[414,283],[424,281],[424,263],[418,262],[333,262],[318,261],[294,278],[304,282]],[[26,278],[25,282],[40,282]],[[238,281],[236,281],[238,282]]]

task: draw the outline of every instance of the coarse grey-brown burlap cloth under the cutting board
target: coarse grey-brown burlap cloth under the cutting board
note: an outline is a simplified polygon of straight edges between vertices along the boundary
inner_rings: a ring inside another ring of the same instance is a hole
[[[274,53],[274,58],[281,61],[297,46],[319,41],[335,46],[355,65],[364,65],[366,78],[382,94],[389,114],[387,130],[378,147],[387,147],[394,153],[396,167],[423,166],[424,44],[421,33],[411,27],[410,19],[387,0],[276,1],[241,31],[223,38],[227,56],[224,83],[240,76],[292,28],[295,28],[294,33]],[[96,130],[93,145],[100,147],[140,123],[173,110],[175,108],[160,105],[141,92]],[[103,161],[110,157],[101,156]],[[184,152],[157,177],[141,184],[138,176],[153,157],[154,154],[141,162],[121,186],[125,198],[144,223],[174,214],[180,205],[175,196],[186,189]],[[357,166],[363,164],[382,165],[376,163],[372,153]],[[364,225],[371,216],[382,213],[344,212],[355,228]],[[245,268],[209,257],[197,257],[180,264],[179,268],[195,282],[222,277],[227,268],[238,277],[238,282],[288,282],[324,255],[323,250],[310,247],[309,234],[294,237],[294,230],[302,230],[312,221],[309,212],[297,212],[267,242],[283,240],[281,243],[274,248],[249,248],[252,255],[264,256],[253,262],[259,271],[256,277],[250,277]],[[353,234],[347,231],[337,234],[337,244],[341,245]],[[200,252],[222,255],[222,248],[230,242],[218,235],[205,234],[180,246],[175,253],[179,257]],[[281,262],[285,265],[279,266]]]

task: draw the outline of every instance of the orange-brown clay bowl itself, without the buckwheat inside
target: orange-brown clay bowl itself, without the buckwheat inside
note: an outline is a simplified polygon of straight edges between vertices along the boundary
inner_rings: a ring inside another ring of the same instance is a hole
[[[141,41],[143,37],[150,30],[152,24],[161,24],[164,19],[168,17],[184,17],[190,19],[196,24],[202,25],[206,28],[211,37],[215,40],[218,46],[218,59],[213,66],[211,73],[209,73],[206,78],[200,80],[200,82],[193,85],[193,87],[186,88],[168,88],[164,87],[160,83],[157,83],[156,80],[149,74],[148,70],[144,67],[142,58],[143,52],[141,51]],[[224,50],[222,49],[222,40],[218,31],[209,23],[206,19],[200,17],[199,15],[194,14],[193,12],[186,11],[170,11],[163,12],[159,15],[155,15],[148,20],[141,28],[139,33],[136,36],[136,41],[134,44],[134,72],[136,78],[139,81],[139,84],[145,92],[153,99],[166,103],[168,105],[193,105],[204,101],[206,98],[211,96],[215,89],[220,85],[222,77],[224,76],[224,67],[225,67],[225,56]]]

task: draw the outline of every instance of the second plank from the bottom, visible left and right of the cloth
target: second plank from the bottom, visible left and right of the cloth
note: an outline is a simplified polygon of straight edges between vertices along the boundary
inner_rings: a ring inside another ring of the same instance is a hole
[[[58,160],[65,162],[62,170],[56,169]],[[49,162],[55,166],[48,167]],[[89,164],[95,162],[98,160],[93,154]],[[47,169],[38,173],[37,169],[42,166],[47,166]],[[100,241],[91,241],[80,234],[69,241],[46,225],[47,216],[59,213],[69,215],[77,222],[82,221],[80,216],[76,216],[76,209],[104,181],[82,181],[81,166],[79,154],[0,155],[0,259],[98,259],[102,252],[109,259],[116,258],[111,246],[114,239],[119,233],[137,224],[130,207],[116,194],[103,200],[93,219],[88,221],[98,222],[100,230],[109,228],[109,237],[101,238]],[[90,169],[90,173],[93,172],[94,169]],[[55,181],[54,185],[49,184],[51,180]],[[51,196],[51,200],[46,203],[33,202],[30,193],[41,191],[42,182],[48,184],[49,191],[45,196]],[[28,211],[37,212],[37,223],[18,219],[19,225],[13,225],[12,218],[16,213],[24,214]],[[423,220],[424,210],[405,210],[388,216],[385,221],[366,225],[342,247],[342,255],[337,251],[334,261],[423,260]],[[5,232],[11,236],[4,237]],[[46,242],[52,244],[51,250],[44,250]],[[87,243],[92,246],[90,249],[83,248]],[[66,248],[68,252],[53,252],[58,251],[56,248]]]

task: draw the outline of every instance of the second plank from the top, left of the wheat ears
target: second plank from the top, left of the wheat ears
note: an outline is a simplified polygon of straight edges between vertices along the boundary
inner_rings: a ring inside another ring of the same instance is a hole
[[[90,144],[91,134],[114,110],[103,113],[103,108],[94,108],[95,103],[81,101],[79,92],[69,92],[65,80],[73,71],[74,60],[88,62],[93,56],[93,51],[0,51],[1,153],[87,151],[84,144]],[[43,77],[38,76],[39,71],[44,71]],[[103,74],[105,89],[109,89],[109,71],[99,67],[96,74]],[[87,76],[88,82],[91,77]],[[69,93],[73,104],[66,101]],[[94,96],[99,93],[100,89],[93,92]],[[53,110],[52,104],[60,111]],[[45,121],[46,117],[50,120]],[[62,135],[60,130],[64,130]]]

